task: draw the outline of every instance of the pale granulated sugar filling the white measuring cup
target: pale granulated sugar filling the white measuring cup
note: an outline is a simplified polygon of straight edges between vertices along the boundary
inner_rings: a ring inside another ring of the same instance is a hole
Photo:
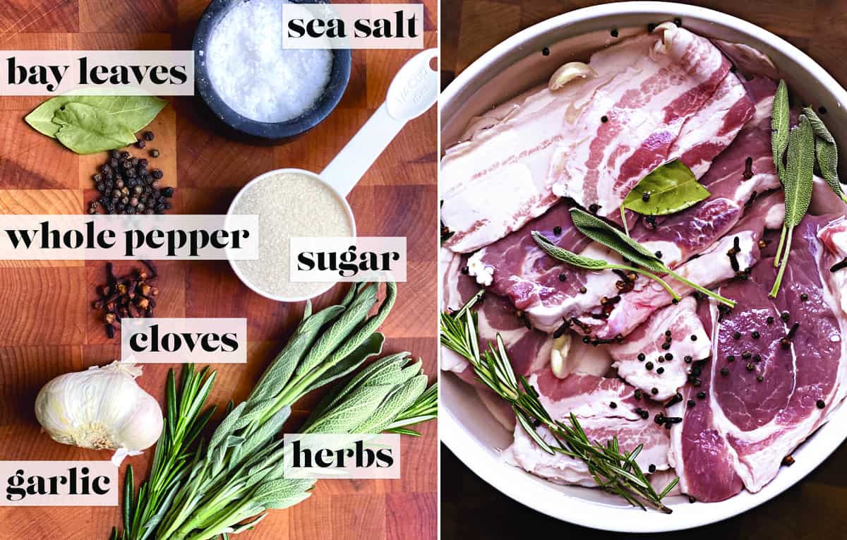
[[[275,174],[258,180],[241,193],[233,213],[259,217],[259,258],[233,263],[249,284],[271,296],[309,298],[329,286],[290,281],[292,236],[353,234],[340,197],[306,174]]]

